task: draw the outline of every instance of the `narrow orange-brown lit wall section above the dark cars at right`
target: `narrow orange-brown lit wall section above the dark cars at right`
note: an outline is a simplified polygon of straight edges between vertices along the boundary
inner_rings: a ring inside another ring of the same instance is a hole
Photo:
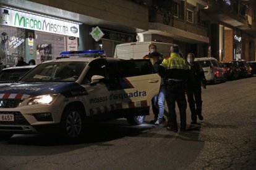
[[[224,62],[233,60],[233,30],[224,30]]]

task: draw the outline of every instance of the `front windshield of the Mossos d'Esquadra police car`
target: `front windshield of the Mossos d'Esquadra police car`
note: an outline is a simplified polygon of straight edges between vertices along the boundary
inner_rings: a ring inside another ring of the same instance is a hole
[[[87,62],[47,62],[41,63],[25,75],[22,82],[76,81]]]

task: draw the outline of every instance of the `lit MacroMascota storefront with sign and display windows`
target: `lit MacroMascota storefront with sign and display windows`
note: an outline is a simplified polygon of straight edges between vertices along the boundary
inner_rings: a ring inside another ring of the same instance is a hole
[[[22,56],[36,64],[58,57],[59,52],[78,49],[79,23],[0,6],[0,57],[7,67]]]

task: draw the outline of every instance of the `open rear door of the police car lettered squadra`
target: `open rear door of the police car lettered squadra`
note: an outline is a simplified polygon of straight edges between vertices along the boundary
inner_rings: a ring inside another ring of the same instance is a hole
[[[149,114],[151,99],[158,94],[161,81],[150,60],[121,60],[117,70],[121,89],[110,95],[116,100],[116,105],[135,108],[135,112],[142,110],[140,113],[130,112],[134,116]]]

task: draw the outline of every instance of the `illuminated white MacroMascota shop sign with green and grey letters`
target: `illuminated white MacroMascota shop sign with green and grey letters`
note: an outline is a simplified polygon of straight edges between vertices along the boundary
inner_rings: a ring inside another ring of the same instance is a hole
[[[0,24],[79,37],[79,24],[0,7]]]

